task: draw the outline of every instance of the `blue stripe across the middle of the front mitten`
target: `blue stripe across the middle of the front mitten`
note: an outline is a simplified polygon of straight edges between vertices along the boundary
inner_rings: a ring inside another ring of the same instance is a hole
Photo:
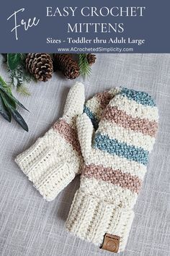
[[[118,140],[109,139],[108,135],[101,135],[99,132],[94,139],[94,148],[127,158],[130,161],[143,163],[144,165],[148,163],[149,152],[147,150],[143,150],[143,148],[136,148],[126,144],[125,142],[118,142]]]

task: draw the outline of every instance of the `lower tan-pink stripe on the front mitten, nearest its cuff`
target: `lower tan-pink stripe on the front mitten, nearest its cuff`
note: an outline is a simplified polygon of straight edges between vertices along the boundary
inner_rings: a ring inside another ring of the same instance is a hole
[[[137,176],[122,173],[120,170],[114,170],[109,167],[95,166],[91,164],[84,166],[82,176],[86,178],[100,179],[104,182],[110,182],[119,185],[122,188],[130,189],[132,192],[138,193],[142,186],[142,180]]]

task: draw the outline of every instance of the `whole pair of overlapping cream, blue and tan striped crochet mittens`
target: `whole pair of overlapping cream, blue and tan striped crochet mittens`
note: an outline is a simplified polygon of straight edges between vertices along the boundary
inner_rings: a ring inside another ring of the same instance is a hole
[[[147,93],[113,88],[84,106],[84,86],[77,83],[68,93],[63,117],[16,161],[46,200],[82,171],[67,229],[119,252],[128,239],[157,121]]]

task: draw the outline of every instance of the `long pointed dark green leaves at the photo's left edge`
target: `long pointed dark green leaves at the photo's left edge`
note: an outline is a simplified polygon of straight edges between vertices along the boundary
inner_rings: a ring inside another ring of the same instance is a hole
[[[25,108],[22,103],[20,103],[17,98],[14,98],[12,95],[12,91],[6,82],[0,76],[0,114],[4,117],[7,121],[11,122],[12,117],[15,121],[25,130],[28,132],[28,126],[24,121],[23,117],[17,111],[17,105]],[[27,110],[28,111],[28,110]]]

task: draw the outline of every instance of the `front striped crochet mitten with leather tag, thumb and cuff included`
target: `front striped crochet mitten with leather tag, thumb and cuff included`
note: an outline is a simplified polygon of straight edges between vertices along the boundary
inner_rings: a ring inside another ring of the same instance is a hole
[[[78,117],[84,168],[68,231],[111,252],[125,249],[157,124],[151,96],[126,88],[109,101],[95,134],[89,117]]]

